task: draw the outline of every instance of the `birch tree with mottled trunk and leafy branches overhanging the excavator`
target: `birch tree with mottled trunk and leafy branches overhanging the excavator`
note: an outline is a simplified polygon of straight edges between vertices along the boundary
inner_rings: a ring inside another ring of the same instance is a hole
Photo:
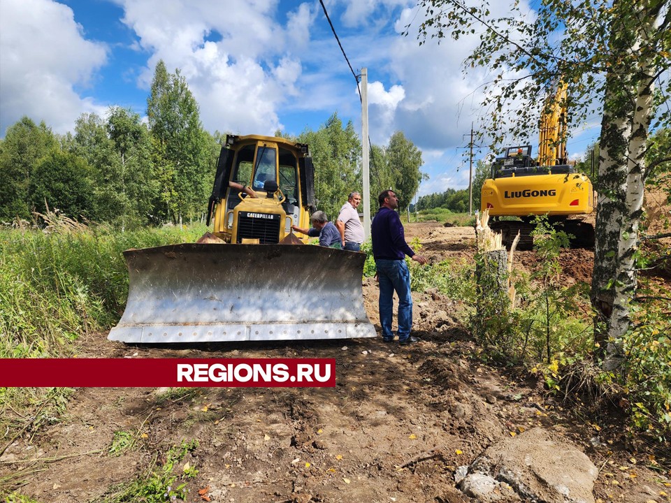
[[[491,72],[483,105],[495,140],[535,136],[544,94],[562,83],[569,127],[602,117],[591,300],[596,342],[615,368],[637,286],[647,138],[671,115],[669,0],[542,0],[535,11],[516,1],[498,17],[476,2],[421,0],[419,41],[479,34],[464,68]],[[507,114],[515,103],[524,106]]]

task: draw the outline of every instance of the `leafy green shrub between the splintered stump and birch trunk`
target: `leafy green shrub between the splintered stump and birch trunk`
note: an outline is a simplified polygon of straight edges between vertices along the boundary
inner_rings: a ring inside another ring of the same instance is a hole
[[[534,248],[540,256],[540,267],[530,276],[483,273],[471,328],[486,358],[555,369],[591,351],[591,321],[582,314],[582,307],[589,305],[589,292],[586,284],[565,287],[559,281],[559,250],[568,245],[568,235],[547,224],[543,217],[536,224]],[[477,254],[479,270],[484,272],[491,269],[485,261],[483,254]],[[508,281],[517,293],[514,308],[506,289],[500,288],[501,282]],[[551,388],[557,379],[555,370],[548,372]]]

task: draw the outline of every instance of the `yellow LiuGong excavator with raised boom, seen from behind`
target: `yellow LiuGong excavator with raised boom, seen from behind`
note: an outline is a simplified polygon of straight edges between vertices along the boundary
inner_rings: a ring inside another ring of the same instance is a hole
[[[547,215],[551,224],[572,235],[572,246],[594,245],[593,225],[579,218],[594,210],[594,191],[589,177],[568,164],[565,103],[562,84],[542,112],[537,159],[531,156],[531,145],[507,147],[482,184],[480,208],[489,210],[489,226],[501,233],[506,247],[519,233],[517,246],[531,248],[536,215]]]

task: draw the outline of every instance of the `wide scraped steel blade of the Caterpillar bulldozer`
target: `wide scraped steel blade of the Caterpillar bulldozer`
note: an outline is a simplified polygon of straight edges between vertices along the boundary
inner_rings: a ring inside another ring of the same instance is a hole
[[[375,337],[366,255],[318,246],[189,243],[124,251],[128,302],[109,340],[226,342]]]

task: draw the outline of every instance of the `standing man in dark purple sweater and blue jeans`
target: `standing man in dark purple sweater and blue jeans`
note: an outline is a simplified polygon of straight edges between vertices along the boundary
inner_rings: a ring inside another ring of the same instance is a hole
[[[380,326],[382,340],[391,342],[391,318],[394,312],[394,291],[398,295],[398,342],[413,344],[417,337],[410,335],[412,328],[412,296],[410,295],[410,270],[405,256],[425,264],[426,258],[417,255],[405,242],[405,232],[401,218],[398,217],[398,198],[392,190],[382,191],[377,198],[380,210],[370,225],[373,238],[373,256],[377,267],[377,279],[380,284]]]

